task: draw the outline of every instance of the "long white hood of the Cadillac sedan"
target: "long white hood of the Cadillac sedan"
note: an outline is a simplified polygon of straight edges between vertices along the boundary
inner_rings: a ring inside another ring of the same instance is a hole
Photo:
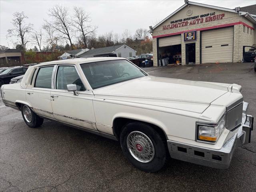
[[[96,97],[109,96],[118,100],[202,113],[211,102],[227,93],[229,86],[230,84],[145,76],[93,92]]]

